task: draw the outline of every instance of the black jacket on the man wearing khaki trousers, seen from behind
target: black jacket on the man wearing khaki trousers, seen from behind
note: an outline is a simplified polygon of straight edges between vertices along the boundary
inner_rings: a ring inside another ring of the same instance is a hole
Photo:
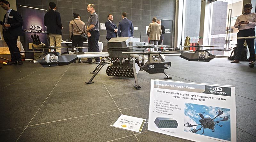
[[[50,9],[44,15],[44,26],[47,27],[46,32],[47,34],[58,34],[62,35],[61,33],[61,19],[60,13]]]

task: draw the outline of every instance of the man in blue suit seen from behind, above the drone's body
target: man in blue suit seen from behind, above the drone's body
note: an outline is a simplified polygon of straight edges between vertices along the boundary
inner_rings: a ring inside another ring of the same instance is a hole
[[[133,25],[132,21],[127,19],[127,13],[123,12],[123,20],[118,25],[118,37],[132,37],[133,36]]]

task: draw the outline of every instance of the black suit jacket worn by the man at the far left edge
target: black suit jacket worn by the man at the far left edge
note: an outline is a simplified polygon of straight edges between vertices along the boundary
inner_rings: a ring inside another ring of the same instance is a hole
[[[5,17],[6,17],[6,14],[4,15],[4,21],[0,22],[1,25],[4,24],[5,22]],[[12,17],[12,18],[10,18]],[[8,30],[10,31],[11,35],[12,36],[21,36],[23,35],[23,29],[22,29],[22,26],[23,26],[23,20],[22,20],[22,17],[20,15],[19,12],[15,11],[15,10],[12,10],[9,14],[9,17],[8,17],[8,20],[7,20],[7,24],[10,24],[12,25],[12,27],[10,27]],[[3,28],[3,36],[4,36],[4,28]]]

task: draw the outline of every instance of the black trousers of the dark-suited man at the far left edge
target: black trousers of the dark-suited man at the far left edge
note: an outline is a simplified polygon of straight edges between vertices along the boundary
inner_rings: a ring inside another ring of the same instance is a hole
[[[19,53],[20,50],[17,47],[18,36],[12,36],[11,33],[8,30],[4,31],[3,36],[4,36],[4,41],[6,42],[6,44],[9,47],[12,62],[21,61],[21,56],[20,56],[20,53]],[[14,52],[18,52],[18,53],[14,53]]]

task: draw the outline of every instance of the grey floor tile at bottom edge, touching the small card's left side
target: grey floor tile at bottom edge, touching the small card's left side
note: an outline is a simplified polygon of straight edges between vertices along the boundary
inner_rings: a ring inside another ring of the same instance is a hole
[[[132,132],[109,126],[119,111],[28,127],[19,141],[110,141]]]

